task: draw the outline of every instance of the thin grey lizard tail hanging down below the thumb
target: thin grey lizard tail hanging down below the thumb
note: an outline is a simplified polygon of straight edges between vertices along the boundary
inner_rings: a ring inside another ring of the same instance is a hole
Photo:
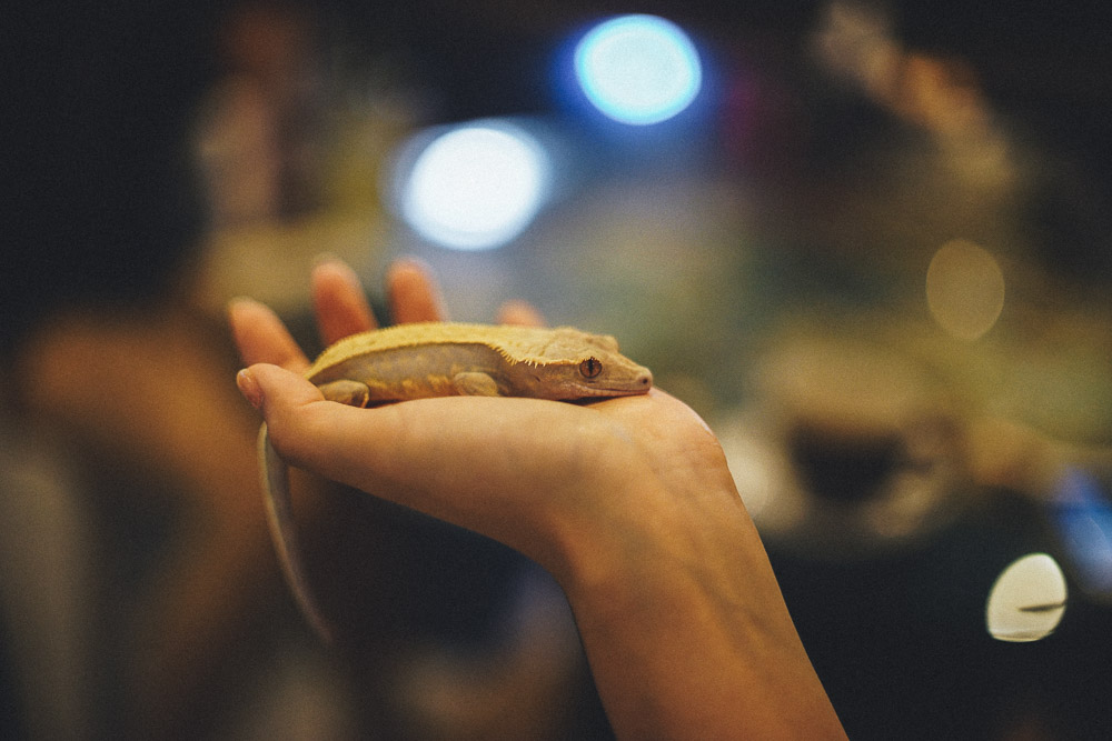
[[[320,608],[309,589],[309,580],[305,574],[301,560],[301,549],[298,545],[297,532],[294,527],[294,511],[289,493],[289,468],[270,444],[270,434],[266,423],[259,429],[259,470],[262,474],[262,492],[267,502],[267,522],[270,525],[270,537],[281,561],[286,582],[289,584],[301,613],[318,635],[326,642],[332,642],[332,628],[321,614]]]

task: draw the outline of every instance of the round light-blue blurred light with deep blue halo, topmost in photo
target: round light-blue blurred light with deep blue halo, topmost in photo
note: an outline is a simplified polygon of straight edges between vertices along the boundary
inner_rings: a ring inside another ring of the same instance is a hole
[[[673,118],[703,83],[695,44],[678,26],[656,16],[619,16],[594,27],[576,47],[574,67],[592,104],[634,126]]]

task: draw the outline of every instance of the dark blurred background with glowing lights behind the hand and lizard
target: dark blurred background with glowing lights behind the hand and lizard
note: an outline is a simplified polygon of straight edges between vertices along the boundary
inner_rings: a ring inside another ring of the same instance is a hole
[[[311,354],[326,253],[384,321],[416,256],[653,368],[851,738],[1112,737],[1098,4],[629,10],[4,11],[0,737],[609,738],[558,588],[470,533],[305,477],[337,649],[296,613],[224,307]]]

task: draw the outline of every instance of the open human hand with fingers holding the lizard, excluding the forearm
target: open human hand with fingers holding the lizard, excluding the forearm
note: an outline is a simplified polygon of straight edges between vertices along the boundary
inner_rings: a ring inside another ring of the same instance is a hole
[[[397,263],[387,284],[399,321],[445,318],[437,286],[420,264]],[[320,263],[312,286],[326,342],[376,326],[346,266]],[[504,540],[550,568],[557,564],[539,547],[552,534],[533,532],[533,523],[550,525],[557,514],[573,513],[587,521],[597,519],[597,510],[618,492],[632,490],[628,495],[644,497],[651,483],[677,493],[685,488],[705,491],[705,484],[695,485],[693,470],[701,478],[716,473],[718,488],[728,483],[713,435],[691,410],[659,391],[589,405],[453,398],[345,409],[322,402],[315,387],[294,375],[304,371],[308,359],[274,312],[238,300],[230,318],[245,361],[290,371],[252,368],[241,377],[242,385],[259,393],[256,399],[269,399],[271,394],[261,393],[264,388],[278,384],[277,400],[262,409],[284,458]],[[523,303],[504,307],[499,320],[540,323],[536,311]],[[353,411],[359,413],[348,417]],[[383,419],[373,419],[378,417]],[[318,430],[332,434],[307,435],[307,424],[319,424]],[[411,437],[403,440],[398,430]],[[600,491],[614,493],[603,497]],[[544,512],[546,508],[555,511]]]

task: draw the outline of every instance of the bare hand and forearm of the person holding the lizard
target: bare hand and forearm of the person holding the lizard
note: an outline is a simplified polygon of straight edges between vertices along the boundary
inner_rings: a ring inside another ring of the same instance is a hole
[[[375,326],[350,270],[312,276],[328,342]],[[421,266],[388,277],[399,321],[445,318]],[[234,302],[240,391],[294,464],[499,540],[575,613],[619,738],[845,738],[721,447],[684,403],[453,397],[326,401],[266,307]],[[500,321],[538,323],[526,304]]]

